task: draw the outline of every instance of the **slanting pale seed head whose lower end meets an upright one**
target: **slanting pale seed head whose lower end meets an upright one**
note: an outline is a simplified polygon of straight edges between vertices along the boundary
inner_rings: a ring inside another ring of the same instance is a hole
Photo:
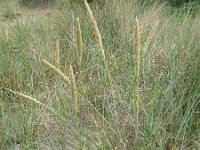
[[[42,60],[45,64],[49,66],[62,80],[66,81],[67,83],[71,84],[70,79],[58,68],[56,68],[54,65],[50,64],[46,60]]]

